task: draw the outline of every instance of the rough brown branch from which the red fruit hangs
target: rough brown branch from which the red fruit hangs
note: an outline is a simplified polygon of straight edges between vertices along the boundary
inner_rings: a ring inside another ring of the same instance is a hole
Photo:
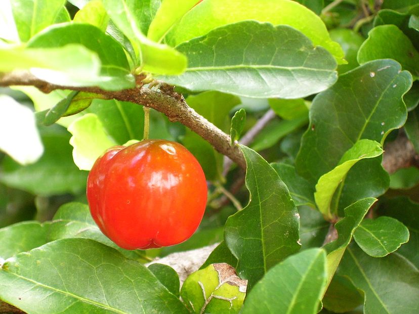
[[[144,79],[144,76],[137,76],[136,79],[136,88],[110,92],[98,87],[75,87],[51,84],[38,79],[28,71],[13,71],[0,74],[0,86],[31,85],[37,87],[44,93],[50,93],[55,89],[70,89],[72,91],[101,94],[107,99],[128,101],[153,108],[165,114],[170,121],[179,121],[189,127],[211,144],[219,153],[228,156],[243,169],[246,168],[246,163],[240,149],[236,145],[230,145],[230,136],[190,108],[183,96],[174,92],[173,86],[162,83],[158,90],[154,90],[143,86],[141,81]]]

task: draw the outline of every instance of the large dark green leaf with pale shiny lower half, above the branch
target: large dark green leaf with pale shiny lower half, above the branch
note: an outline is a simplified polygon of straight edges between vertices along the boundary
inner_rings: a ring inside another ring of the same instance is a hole
[[[194,92],[210,84],[213,90],[240,96],[300,98],[323,91],[337,79],[333,57],[285,25],[229,24],[177,49],[188,57],[185,73],[159,79]]]

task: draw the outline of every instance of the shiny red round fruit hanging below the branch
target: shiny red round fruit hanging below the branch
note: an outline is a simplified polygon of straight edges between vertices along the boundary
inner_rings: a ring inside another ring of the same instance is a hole
[[[124,249],[149,249],[181,243],[195,232],[207,186],[200,164],[181,144],[145,140],[99,157],[87,198],[109,239]]]

